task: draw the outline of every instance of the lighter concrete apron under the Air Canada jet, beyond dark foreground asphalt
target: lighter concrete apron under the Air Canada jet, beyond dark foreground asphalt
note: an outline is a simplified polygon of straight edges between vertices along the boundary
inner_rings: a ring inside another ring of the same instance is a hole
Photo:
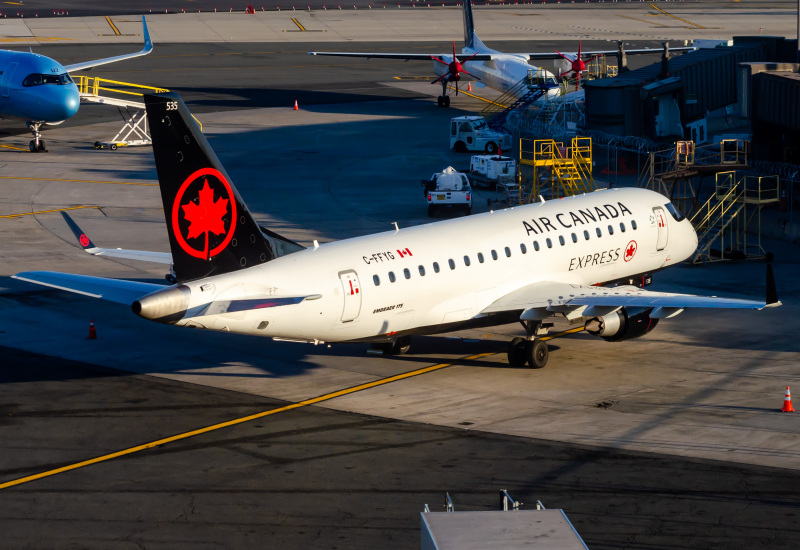
[[[401,227],[428,222],[417,180],[466,161],[447,151],[451,114],[419,100],[207,113],[203,123],[255,215],[310,243],[383,230],[392,221]],[[100,208],[74,215],[91,226],[96,243],[165,250],[155,187],[96,183],[129,181],[115,176],[117,170],[153,177],[146,149],[111,153],[80,145],[87,132],[105,126],[51,130],[60,136],[59,150],[37,157],[35,165],[23,162],[29,155],[8,153],[5,178],[43,181],[4,180],[8,191],[0,215],[91,204]],[[75,181],[50,181],[54,173]],[[31,269],[162,275],[160,268],[82,256],[59,218],[49,212],[3,219],[2,275]],[[60,293],[45,293],[35,303],[26,303],[26,293],[5,296],[0,345],[291,401],[452,362],[449,369],[325,406],[442,426],[467,422],[468,430],[796,468],[800,434],[793,417],[777,410],[785,386],[800,385],[793,321],[798,286],[791,275],[797,255],[794,247],[781,250],[776,249],[776,275],[783,307],[689,312],[621,344],[588,335],[557,340],[542,371],[505,365],[505,342],[517,333],[513,325],[456,335],[475,343],[421,338],[412,355],[389,359],[366,354],[360,345],[313,347],[148,324],[125,307]],[[731,296],[758,296],[763,280],[763,264],[676,267],[656,276],[659,289]],[[97,341],[85,340],[89,319],[97,322]]]

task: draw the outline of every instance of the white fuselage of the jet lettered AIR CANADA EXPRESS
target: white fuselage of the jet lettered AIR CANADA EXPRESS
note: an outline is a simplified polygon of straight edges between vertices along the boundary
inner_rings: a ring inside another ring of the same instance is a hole
[[[191,299],[176,324],[341,342],[507,323],[481,311],[526,285],[594,285],[688,258],[697,236],[668,202],[643,189],[604,190],[324,244],[184,283]],[[256,296],[305,300],[209,314],[212,302]]]

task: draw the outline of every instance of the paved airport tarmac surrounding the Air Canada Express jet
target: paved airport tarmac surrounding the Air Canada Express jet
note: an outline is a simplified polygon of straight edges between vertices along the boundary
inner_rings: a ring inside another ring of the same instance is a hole
[[[446,129],[479,100],[437,109],[429,66],[317,66],[307,45],[156,44],[94,76],[179,89],[255,217],[291,239],[429,222],[419,179],[466,165]],[[63,55],[109,55],[83,48]],[[796,246],[764,243],[781,308],[688,312],[621,344],[573,334],[551,341],[541,371],[508,368],[511,325],[418,338],[400,358],[181,330],[9,278],[163,280],[149,264],[89,257],[58,213],[72,209],[98,246],[168,250],[149,149],[92,148],[116,117],[82,106],[35,156],[18,124],[0,123],[4,546],[408,548],[423,504],[439,509],[449,491],[457,509],[497,509],[500,489],[564,508],[590,548],[800,542],[800,425],[777,412],[785,386],[800,387]],[[491,193],[477,195],[485,210]],[[655,281],[759,297],[764,266],[674,267]],[[137,450],[262,411],[274,412]],[[7,486],[119,451],[130,452]]]

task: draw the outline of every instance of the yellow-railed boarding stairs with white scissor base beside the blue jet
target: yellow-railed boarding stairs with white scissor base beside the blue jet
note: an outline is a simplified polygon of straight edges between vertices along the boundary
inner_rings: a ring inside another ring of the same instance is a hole
[[[153,143],[147,129],[147,111],[141,101],[142,95],[144,93],[158,94],[169,90],[84,75],[78,76],[76,83],[82,103],[114,106],[122,117],[123,125],[119,132],[110,140],[95,141],[95,149],[108,148],[116,151],[118,147]],[[197,118],[194,116],[192,118],[200,124]],[[202,125],[200,125],[200,129],[203,129]]]

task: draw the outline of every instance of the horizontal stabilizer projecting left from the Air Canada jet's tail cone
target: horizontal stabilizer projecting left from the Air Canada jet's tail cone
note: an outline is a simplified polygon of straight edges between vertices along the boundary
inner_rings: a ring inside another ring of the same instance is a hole
[[[83,294],[91,298],[101,298],[118,304],[131,305],[133,302],[164,288],[163,285],[125,281],[121,279],[106,279],[104,277],[90,277],[88,275],[73,275],[71,273],[57,273],[55,271],[26,271],[11,276],[13,279],[27,281],[37,285],[49,286],[67,292]]]

